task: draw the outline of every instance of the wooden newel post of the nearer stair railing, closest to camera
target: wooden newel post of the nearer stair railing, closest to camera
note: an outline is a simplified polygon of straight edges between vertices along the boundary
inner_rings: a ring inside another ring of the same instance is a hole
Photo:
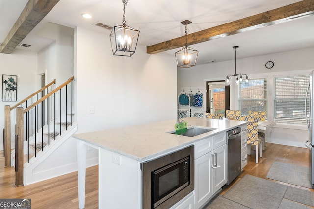
[[[15,185],[14,186],[22,186],[23,185],[23,146],[24,146],[24,109],[23,107],[16,108],[16,135],[17,135],[17,142],[15,147]]]

